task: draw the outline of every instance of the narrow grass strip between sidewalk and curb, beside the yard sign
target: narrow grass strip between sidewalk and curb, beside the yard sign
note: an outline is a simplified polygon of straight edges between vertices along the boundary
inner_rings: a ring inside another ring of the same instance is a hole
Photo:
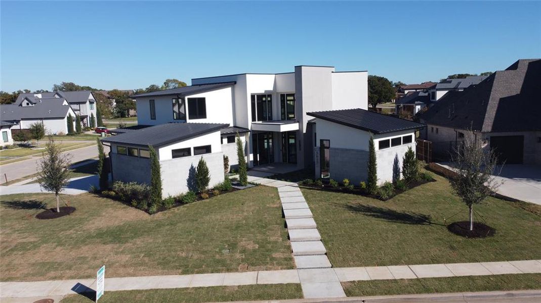
[[[302,298],[300,284],[217,286],[175,289],[151,289],[147,291],[105,292],[100,303],[107,302],[153,302],[197,303],[256,300],[285,300]],[[83,295],[69,295],[62,303],[93,302]]]

